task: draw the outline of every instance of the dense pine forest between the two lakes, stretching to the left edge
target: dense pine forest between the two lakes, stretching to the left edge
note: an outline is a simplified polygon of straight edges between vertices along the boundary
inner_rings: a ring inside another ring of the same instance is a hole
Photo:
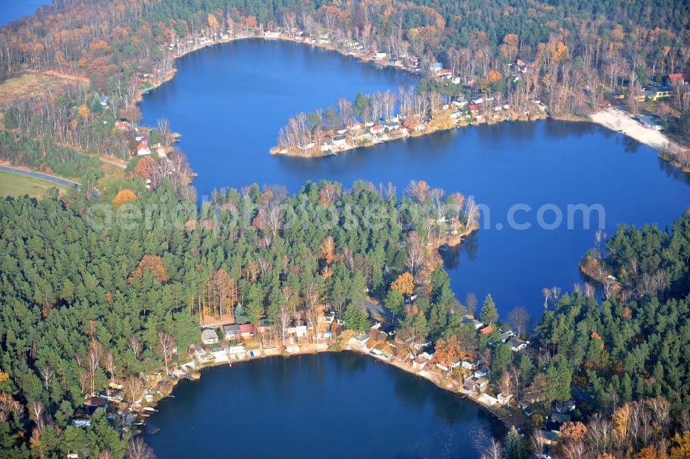
[[[98,198],[0,202],[0,389],[12,400],[0,404],[2,457],[27,446],[43,457],[121,456],[117,434],[92,432],[112,427],[70,426],[72,412],[115,376],[157,372],[164,338],[188,358],[199,315],[233,313],[235,302],[247,322],[268,318],[277,329],[284,311],[312,318],[324,307],[368,328],[359,299],[386,295],[406,273],[427,306],[438,299],[429,314],[446,317],[453,295],[432,244],[473,218],[462,195],[442,199],[423,182],[402,199],[363,182],[352,191],[306,184],[294,196],[255,185],[215,193],[201,209],[179,201],[169,179],[152,193],[139,178],[127,185]]]

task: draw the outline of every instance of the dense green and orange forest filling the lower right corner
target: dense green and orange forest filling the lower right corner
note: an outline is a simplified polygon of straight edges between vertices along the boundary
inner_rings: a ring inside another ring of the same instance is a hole
[[[558,298],[545,292],[538,349],[513,369],[519,378],[528,375],[517,393],[531,402],[570,399],[570,387],[553,393],[562,371],[580,398],[591,398],[589,420],[564,423],[554,457],[688,457],[690,215],[671,231],[620,226],[607,242],[597,241],[582,266],[596,259],[618,278],[585,274],[600,284],[600,302],[580,285]],[[504,451],[522,451],[519,445],[511,432]],[[538,453],[544,444],[533,436],[530,446]]]

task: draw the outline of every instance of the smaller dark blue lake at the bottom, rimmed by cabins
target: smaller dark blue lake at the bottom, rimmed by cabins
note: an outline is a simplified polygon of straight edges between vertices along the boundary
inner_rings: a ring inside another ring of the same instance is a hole
[[[159,458],[464,458],[504,431],[474,402],[353,352],[213,367],[159,404]]]

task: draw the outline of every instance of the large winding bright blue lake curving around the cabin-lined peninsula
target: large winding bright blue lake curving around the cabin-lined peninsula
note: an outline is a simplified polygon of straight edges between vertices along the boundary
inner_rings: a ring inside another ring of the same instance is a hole
[[[181,133],[180,148],[199,177],[199,196],[213,188],[257,182],[284,184],[292,191],[307,180],[331,179],[351,186],[356,179],[393,182],[402,191],[410,179],[473,195],[484,204],[486,228],[455,253],[446,253],[453,290],[480,302],[492,293],[505,318],[524,306],[537,320],[544,287],[570,291],[582,282],[578,260],[593,246],[598,215],[583,228],[581,213],[568,229],[568,206],[600,205],[605,228],[617,224],[666,226],[690,204],[686,175],[660,162],[654,150],[591,123],[537,121],[461,128],[360,148],[320,159],[268,154],[278,130],[299,111],[353,99],[357,91],[397,90],[413,77],[362,64],[335,52],[282,41],[237,41],[179,59],[172,81],[141,104],[144,124],[168,118]],[[510,228],[515,222],[527,230]],[[558,228],[543,220],[562,215]],[[485,210],[486,210],[485,209]],[[487,221],[486,217],[490,219]],[[501,227],[501,229],[498,229]]]

